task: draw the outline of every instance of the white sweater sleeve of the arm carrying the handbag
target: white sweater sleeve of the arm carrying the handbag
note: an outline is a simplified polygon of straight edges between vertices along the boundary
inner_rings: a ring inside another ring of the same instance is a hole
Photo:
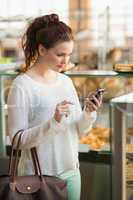
[[[8,95],[7,107],[10,140],[12,141],[13,136],[18,130],[24,130],[20,146],[21,149],[38,146],[48,134],[56,133],[59,130],[64,131],[63,124],[56,122],[54,117],[45,123],[29,128],[30,98],[28,91],[23,85],[12,85]]]

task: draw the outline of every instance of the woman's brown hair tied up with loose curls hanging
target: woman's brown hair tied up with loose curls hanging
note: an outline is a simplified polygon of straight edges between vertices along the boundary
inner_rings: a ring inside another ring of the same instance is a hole
[[[26,72],[39,56],[38,45],[46,49],[54,47],[58,42],[73,40],[72,29],[59,20],[57,14],[44,15],[35,18],[27,28],[22,38],[22,48],[25,55],[25,66],[21,72]]]

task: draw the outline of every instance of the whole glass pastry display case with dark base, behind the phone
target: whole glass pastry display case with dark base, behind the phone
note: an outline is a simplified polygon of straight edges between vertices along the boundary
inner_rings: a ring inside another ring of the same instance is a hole
[[[133,73],[93,70],[67,72],[67,75],[75,84],[81,104],[89,92],[99,87],[106,89],[103,105],[98,110],[92,130],[80,139],[79,159],[83,184],[81,200],[114,200],[112,158],[116,152],[112,151],[115,138],[112,139],[110,101],[133,91]],[[127,200],[118,196],[116,199]]]

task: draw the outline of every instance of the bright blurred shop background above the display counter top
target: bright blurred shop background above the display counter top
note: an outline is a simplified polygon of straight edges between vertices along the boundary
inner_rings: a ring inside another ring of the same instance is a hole
[[[0,63],[23,61],[21,36],[32,18],[57,13],[75,33],[72,62],[112,69],[133,61],[132,0],[0,0]]]

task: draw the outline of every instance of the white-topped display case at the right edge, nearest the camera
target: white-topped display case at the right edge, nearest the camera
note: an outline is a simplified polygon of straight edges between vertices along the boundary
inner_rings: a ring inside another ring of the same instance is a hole
[[[133,199],[133,93],[114,98],[111,107],[112,199]]]

